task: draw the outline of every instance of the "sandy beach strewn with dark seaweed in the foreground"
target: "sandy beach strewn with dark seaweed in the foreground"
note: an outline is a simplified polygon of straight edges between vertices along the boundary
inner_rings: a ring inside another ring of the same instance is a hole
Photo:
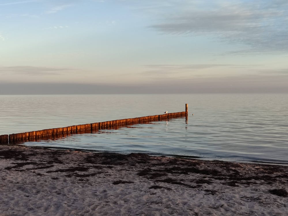
[[[0,215],[287,215],[288,167],[0,146]]]

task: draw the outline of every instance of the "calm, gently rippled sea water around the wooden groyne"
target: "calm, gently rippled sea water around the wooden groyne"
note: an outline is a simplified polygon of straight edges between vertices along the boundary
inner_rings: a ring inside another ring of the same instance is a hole
[[[0,95],[0,134],[185,111],[185,103],[188,121],[25,145],[288,164],[288,94]]]

